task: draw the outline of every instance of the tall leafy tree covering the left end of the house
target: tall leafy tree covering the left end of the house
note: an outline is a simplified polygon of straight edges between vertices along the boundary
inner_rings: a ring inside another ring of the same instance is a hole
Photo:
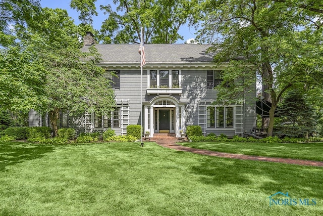
[[[36,25],[36,24],[35,24]],[[38,28],[22,32],[25,46],[33,47],[46,73],[45,100],[39,111],[48,112],[54,136],[60,110],[80,114],[85,111],[110,114],[115,107],[114,91],[105,70],[96,65],[94,47],[82,52],[82,28],[73,23],[65,10],[43,9]],[[84,32],[85,33],[85,32]]]

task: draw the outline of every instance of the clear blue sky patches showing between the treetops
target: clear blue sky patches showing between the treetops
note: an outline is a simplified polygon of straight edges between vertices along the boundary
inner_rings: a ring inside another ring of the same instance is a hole
[[[106,18],[106,15],[103,15],[102,11],[99,10],[100,5],[111,4],[113,6],[113,1],[111,0],[97,0],[95,5],[98,12],[98,16],[93,17],[93,26],[95,29],[100,30],[101,23]],[[70,1],[67,0],[41,0],[40,5],[44,8],[61,8],[67,10],[70,17],[72,17],[75,21],[75,24],[80,24],[78,20],[78,13],[76,10],[70,8]],[[189,28],[188,26],[182,26],[179,30],[179,34],[184,36],[184,40],[178,40],[176,44],[183,44],[186,40],[195,38],[195,30],[194,28]]]

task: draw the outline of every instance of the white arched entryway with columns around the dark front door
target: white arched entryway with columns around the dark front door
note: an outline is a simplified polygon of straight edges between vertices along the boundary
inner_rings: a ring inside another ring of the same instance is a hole
[[[150,137],[154,133],[175,133],[179,137],[184,129],[185,103],[173,96],[160,95],[144,102],[144,113],[144,131],[149,131]]]

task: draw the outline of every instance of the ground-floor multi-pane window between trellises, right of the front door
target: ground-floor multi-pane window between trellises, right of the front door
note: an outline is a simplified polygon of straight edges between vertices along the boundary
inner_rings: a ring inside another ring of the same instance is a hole
[[[207,107],[206,122],[208,128],[233,128],[233,107]]]

